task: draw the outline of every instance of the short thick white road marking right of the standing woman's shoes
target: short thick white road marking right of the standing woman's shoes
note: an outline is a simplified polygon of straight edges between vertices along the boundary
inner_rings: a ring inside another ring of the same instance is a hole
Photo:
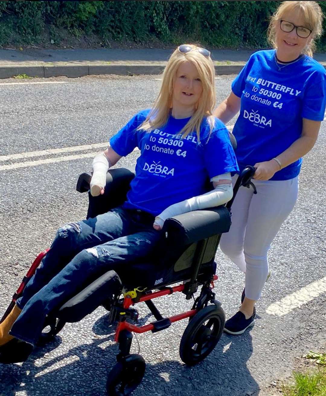
[[[266,312],[269,315],[284,316],[293,309],[319,297],[322,293],[326,293],[326,276],[271,304]]]

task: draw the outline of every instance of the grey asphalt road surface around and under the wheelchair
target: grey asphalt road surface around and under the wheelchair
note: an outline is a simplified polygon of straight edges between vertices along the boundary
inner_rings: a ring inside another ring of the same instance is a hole
[[[75,185],[79,173],[90,169],[92,158],[35,162],[17,169],[1,166],[96,150],[11,157],[2,162],[1,156],[108,141],[135,112],[150,107],[160,84],[157,78],[87,77],[52,79],[60,84],[0,84],[0,315],[36,255],[50,246],[57,228],[85,217],[87,194],[77,193]],[[217,103],[229,93],[232,80],[233,76],[216,80]],[[16,81],[2,81],[8,82]],[[240,336],[224,334],[215,350],[191,368],[179,358],[185,320],[159,333],[139,335],[147,369],[135,396],[265,396],[273,390],[273,381],[291,374],[296,358],[310,349],[326,347],[325,293],[317,293],[318,297],[284,316],[266,312],[271,303],[326,276],[325,140],[322,123],[315,148],[303,163],[297,205],[269,254],[272,276],[257,303],[255,326]],[[137,152],[133,152],[119,166],[133,167],[136,158]],[[219,282],[215,291],[229,317],[240,304],[244,278],[220,251],[216,261]],[[158,302],[162,314],[170,316],[190,305],[177,293]],[[142,322],[153,320],[146,307],[139,308]],[[36,348],[27,362],[0,365],[0,395],[105,394],[106,373],[117,352],[106,320],[106,311],[100,307],[81,322],[67,324],[51,345]],[[134,337],[132,352],[137,351]]]

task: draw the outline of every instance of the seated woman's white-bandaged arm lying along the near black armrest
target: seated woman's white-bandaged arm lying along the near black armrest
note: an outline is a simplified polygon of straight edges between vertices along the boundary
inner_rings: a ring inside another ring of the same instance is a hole
[[[164,221],[169,217],[198,209],[214,208],[231,200],[233,188],[230,172],[212,177],[210,181],[213,182],[214,190],[169,206],[155,217],[154,225],[162,228]]]

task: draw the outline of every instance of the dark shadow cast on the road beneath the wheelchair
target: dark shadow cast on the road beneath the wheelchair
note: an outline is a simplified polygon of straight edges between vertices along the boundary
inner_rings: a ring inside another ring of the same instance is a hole
[[[96,335],[90,344],[58,355],[55,350],[62,340],[57,336],[46,347],[36,348],[22,365],[0,365],[0,396],[105,395],[107,372],[114,366],[118,353],[117,345],[112,343],[114,333],[112,327],[107,326],[107,317],[102,316],[93,325]],[[102,337],[96,338],[99,336]],[[173,360],[147,362],[145,377],[133,395],[257,395],[258,384],[246,366],[251,354],[249,331],[236,337],[223,334],[214,351],[196,366],[187,367]]]

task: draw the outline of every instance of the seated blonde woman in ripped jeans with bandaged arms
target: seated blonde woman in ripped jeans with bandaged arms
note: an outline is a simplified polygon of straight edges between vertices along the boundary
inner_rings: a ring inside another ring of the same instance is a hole
[[[59,228],[50,250],[0,324],[0,361],[26,359],[46,316],[99,276],[155,255],[164,221],[232,198],[238,171],[225,125],[212,116],[215,71],[207,49],[181,45],[171,55],[154,105],[142,110],[93,160],[90,191],[104,193],[106,174],[140,150],[122,206]],[[206,181],[212,182],[206,192]],[[27,353],[28,351],[28,353]]]

